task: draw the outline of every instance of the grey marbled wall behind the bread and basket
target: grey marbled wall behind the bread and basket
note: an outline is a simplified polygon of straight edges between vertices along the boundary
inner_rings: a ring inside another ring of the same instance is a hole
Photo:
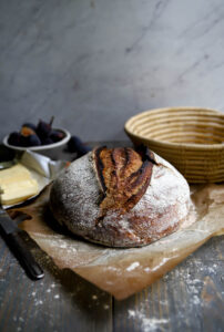
[[[141,111],[224,111],[223,0],[1,0],[1,138],[55,116],[84,141],[123,139]]]

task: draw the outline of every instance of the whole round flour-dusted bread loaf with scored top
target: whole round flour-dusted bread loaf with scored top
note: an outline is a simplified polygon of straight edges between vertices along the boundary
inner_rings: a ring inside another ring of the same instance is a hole
[[[53,181],[50,207],[73,234],[109,247],[141,247],[175,231],[190,208],[184,177],[147,148],[100,147]]]

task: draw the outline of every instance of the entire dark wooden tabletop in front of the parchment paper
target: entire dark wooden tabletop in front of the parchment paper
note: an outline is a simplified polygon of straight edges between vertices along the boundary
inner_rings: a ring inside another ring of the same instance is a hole
[[[224,331],[224,236],[123,301],[59,270],[22,235],[45,277],[30,280],[0,237],[0,331]]]

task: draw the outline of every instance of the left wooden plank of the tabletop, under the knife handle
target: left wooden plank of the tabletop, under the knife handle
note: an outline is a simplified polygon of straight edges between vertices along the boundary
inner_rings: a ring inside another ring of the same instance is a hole
[[[29,246],[31,241],[29,240]],[[32,242],[44,279],[28,279],[0,239],[0,331],[112,331],[112,298],[59,270]]]

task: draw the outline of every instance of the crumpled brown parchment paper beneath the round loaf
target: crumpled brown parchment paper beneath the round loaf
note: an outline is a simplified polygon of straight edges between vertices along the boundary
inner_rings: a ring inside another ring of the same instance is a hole
[[[60,269],[73,270],[119,300],[150,286],[211,237],[224,234],[224,184],[193,187],[194,209],[185,226],[150,246],[133,249],[105,248],[71,236],[55,226],[48,198],[49,187],[30,206],[19,209],[32,217],[21,228]]]

